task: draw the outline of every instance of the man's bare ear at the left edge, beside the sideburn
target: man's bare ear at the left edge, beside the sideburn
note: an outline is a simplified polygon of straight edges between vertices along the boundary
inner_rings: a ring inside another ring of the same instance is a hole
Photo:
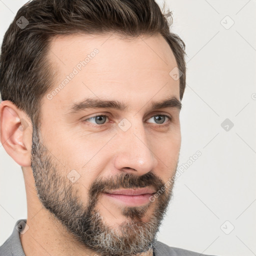
[[[24,111],[9,100],[0,103],[0,141],[21,166],[30,166],[32,124]]]

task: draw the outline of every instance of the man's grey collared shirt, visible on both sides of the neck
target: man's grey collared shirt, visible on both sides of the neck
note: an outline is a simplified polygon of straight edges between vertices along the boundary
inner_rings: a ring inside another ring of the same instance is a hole
[[[8,239],[0,246],[0,256],[25,256],[21,246],[19,232],[16,226],[20,221],[26,222],[26,219],[19,219],[15,223],[13,231]],[[160,241],[156,241],[153,245],[154,256],[207,256],[205,254],[193,252],[190,250],[170,247]]]

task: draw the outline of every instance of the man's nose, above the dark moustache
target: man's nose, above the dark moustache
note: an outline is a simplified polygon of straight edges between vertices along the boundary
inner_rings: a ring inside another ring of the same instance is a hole
[[[119,132],[119,145],[114,158],[116,169],[143,175],[156,167],[157,157],[150,148],[143,125],[140,126],[137,129],[131,126],[129,130]]]

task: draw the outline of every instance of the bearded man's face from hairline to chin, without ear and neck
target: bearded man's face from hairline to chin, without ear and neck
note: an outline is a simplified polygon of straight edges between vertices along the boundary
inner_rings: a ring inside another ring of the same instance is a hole
[[[31,167],[40,201],[75,239],[102,255],[132,255],[149,249],[171,198],[179,82],[160,35],[109,36],[51,42],[54,86],[33,130]],[[124,188],[151,190],[109,195]]]

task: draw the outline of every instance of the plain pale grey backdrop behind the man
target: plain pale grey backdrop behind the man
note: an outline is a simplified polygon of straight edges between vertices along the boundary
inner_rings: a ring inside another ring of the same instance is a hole
[[[0,41],[25,2],[0,0]],[[166,4],[187,53],[178,165],[184,171],[157,239],[204,254],[256,255],[256,1]],[[0,244],[20,218],[26,218],[21,167],[0,144]]]

